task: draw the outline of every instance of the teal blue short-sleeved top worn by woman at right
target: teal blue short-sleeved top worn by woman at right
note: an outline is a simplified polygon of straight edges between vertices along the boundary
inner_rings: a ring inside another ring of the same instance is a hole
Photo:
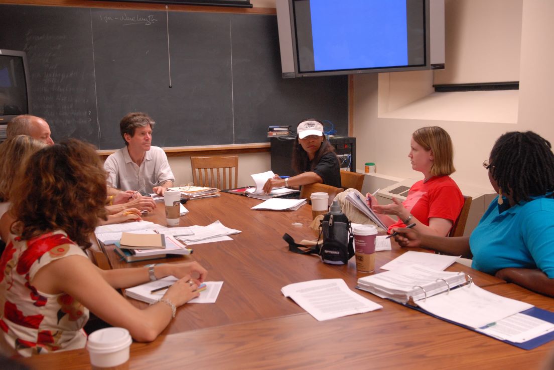
[[[533,197],[509,205],[498,197],[469,238],[474,269],[494,275],[507,267],[540,269],[554,278],[554,199]]]

